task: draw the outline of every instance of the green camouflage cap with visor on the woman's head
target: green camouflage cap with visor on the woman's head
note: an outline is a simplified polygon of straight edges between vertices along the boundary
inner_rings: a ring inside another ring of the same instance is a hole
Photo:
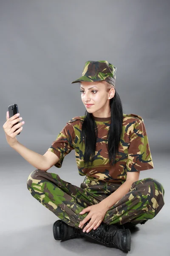
[[[115,86],[117,68],[108,61],[86,61],[82,76],[71,82],[95,82],[105,80]]]

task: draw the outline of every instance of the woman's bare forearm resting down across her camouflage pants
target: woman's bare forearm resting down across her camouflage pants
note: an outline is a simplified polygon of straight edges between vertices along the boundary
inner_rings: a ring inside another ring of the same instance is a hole
[[[126,180],[115,192],[109,195],[107,198],[103,199],[99,204],[105,207],[108,211],[120,198],[129,192],[130,186],[132,185],[132,180]]]

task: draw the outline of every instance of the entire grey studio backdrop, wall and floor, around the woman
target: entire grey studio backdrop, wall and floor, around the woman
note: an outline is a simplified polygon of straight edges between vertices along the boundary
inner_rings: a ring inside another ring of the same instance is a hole
[[[107,60],[117,67],[116,89],[124,113],[144,119],[154,169],[140,179],[158,179],[165,206],[132,233],[132,255],[169,255],[169,70],[170,2],[163,0],[0,0],[0,250],[3,255],[124,255],[85,240],[55,241],[58,218],[26,188],[35,169],[6,142],[8,105],[17,103],[25,121],[17,140],[44,154],[72,117],[84,115],[79,85],[86,61]],[[49,172],[77,186],[74,151],[61,169]],[[169,208],[170,209],[170,208]],[[147,247],[147,249],[146,249]]]

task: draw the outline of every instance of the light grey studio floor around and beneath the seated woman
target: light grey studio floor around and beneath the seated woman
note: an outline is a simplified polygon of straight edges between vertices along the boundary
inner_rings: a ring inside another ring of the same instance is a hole
[[[35,150],[36,151],[36,150]],[[38,151],[37,151],[38,152]],[[11,154],[11,156],[10,156]],[[33,198],[26,187],[27,178],[35,168],[17,152],[8,147],[8,160],[1,161],[1,210],[0,210],[0,255],[3,256],[65,256],[125,255],[116,248],[105,247],[85,238],[56,241],[53,237],[53,223],[59,219]],[[3,154],[1,154],[1,157]],[[10,156],[10,157],[9,157]],[[154,169],[140,173],[140,179],[152,177],[159,180],[165,190],[165,205],[161,211],[144,225],[137,225],[131,232],[129,255],[170,255],[170,199],[168,181],[169,155],[152,153]],[[63,180],[79,186],[84,177],[78,174],[74,152],[65,157],[61,169],[53,166],[49,172],[57,173]]]

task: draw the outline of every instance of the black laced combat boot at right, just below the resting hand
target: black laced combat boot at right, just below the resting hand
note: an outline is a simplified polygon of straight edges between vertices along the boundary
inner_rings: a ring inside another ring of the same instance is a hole
[[[88,222],[83,225],[82,230],[87,224]],[[80,230],[80,233],[85,237],[94,239],[108,247],[115,247],[121,250],[130,251],[131,233],[129,229],[119,228],[114,224],[106,225],[101,223],[96,230],[92,229],[88,233],[83,233],[82,230]]]

